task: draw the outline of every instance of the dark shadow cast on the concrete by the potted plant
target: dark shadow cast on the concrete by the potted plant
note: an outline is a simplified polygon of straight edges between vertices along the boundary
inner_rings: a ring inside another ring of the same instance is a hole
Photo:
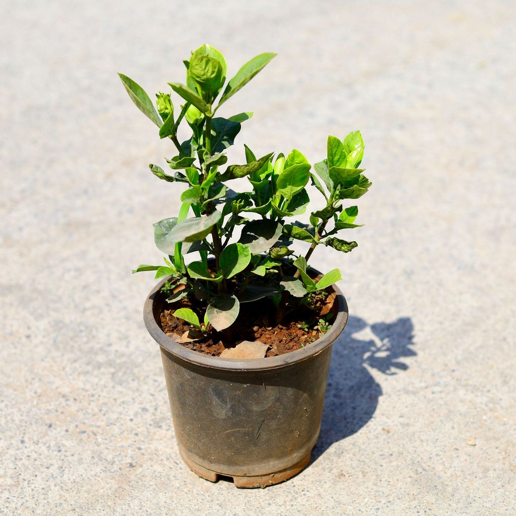
[[[349,316],[346,329],[333,344],[321,430],[312,450],[312,462],[333,443],[358,432],[373,417],[383,393],[365,366],[384,375],[408,369],[399,359],[416,356],[411,348],[413,331],[410,317],[369,325],[360,317]],[[357,335],[362,332],[364,335]]]

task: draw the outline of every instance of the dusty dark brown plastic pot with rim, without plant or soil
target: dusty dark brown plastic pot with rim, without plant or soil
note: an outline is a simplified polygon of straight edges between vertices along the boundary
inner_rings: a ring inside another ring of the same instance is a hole
[[[312,269],[313,270],[313,269]],[[330,330],[299,350],[276,357],[235,360],[187,349],[163,333],[165,295],[160,281],[143,317],[159,344],[175,437],[186,464],[216,481],[265,487],[299,473],[319,435],[333,342],[348,318],[335,292]]]

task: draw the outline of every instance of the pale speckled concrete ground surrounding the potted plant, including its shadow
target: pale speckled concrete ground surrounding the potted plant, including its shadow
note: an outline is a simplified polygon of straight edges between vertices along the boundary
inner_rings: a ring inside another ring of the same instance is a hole
[[[516,513],[512,2],[2,14],[0,513]],[[314,254],[342,265],[351,313],[314,460],[266,490],[182,463],[141,320],[154,280],[130,274],[179,192],[148,172],[172,151],[116,72],[156,91],[204,41],[233,71],[279,53],[224,111],[255,111],[235,159],[246,142],[314,162],[360,128],[374,183],[359,248]]]

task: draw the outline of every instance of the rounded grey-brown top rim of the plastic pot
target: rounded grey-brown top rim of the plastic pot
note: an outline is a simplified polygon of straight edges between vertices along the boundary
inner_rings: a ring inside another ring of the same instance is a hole
[[[317,274],[320,274],[320,272],[313,267],[312,270]],[[143,321],[145,322],[147,331],[160,347],[167,350],[169,353],[179,359],[201,367],[230,371],[260,371],[287,367],[289,365],[308,360],[333,344],[337,340],[338,336],[343,332],[348,320],[348,305],[346,299],[344,298],[341,289],[336,285],[332,285],[331,287],[328,287],[328,291],[330,293],[335,292],[336,294],[334,303],[338,303],[337,314],[330,330],[319,337],[315,342],[308,344],[301,349],[296,349],[295,351],[284,353],[276,357],[265,357],[248,360],[212,357],[200,353],[199,351],[193,351],[192,349],[188,349],[181,344],[174,342],[172,338],[165,335],[163,330],[158,325],[154,317],[154,304],[155,300],[160,294],[162,286],[167,280],[170,280],[170,278],[163,278],[162,280],[158,281],[158,283],[147,296],[147,299],[143,305]]]

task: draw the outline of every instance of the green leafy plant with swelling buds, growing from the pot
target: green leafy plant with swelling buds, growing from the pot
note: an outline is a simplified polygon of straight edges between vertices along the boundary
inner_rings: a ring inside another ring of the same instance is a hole
[[[154,224],[156,246],[167,255],[165,265],[140,265],[133,272],[155,270],[156,278],[170,277],[164,286],[168,302],[188,296],[193,308],[207,306],[204,314],[190,308],[174,312],[198,331],[229,328],[241,303],[264,297],[276,303],[281,318],[286,304],[295,306],[341,279],[338,269],[318,281],[309,275],[307,263],[317,246],[344,253],[357,247],[355,241],[336,235],[360,225],[354,223],[357,206],[344,207],[342,201],[358,199],[371,186],[360,168],[364,143],[359,131],[343,140],[329,136],[327,157],[313,166],[315,173],[295,149],[286,156],[256,157],[244,146],[246,163],[227,165],[225,151],[252,113],[223,118],[216,116],[217,111],[275,55],[254,57],[226,82],[224,56],[202,45],[184,61],[186,84],[169,83],[181,98],[176,109],[170,93],[157,93],[154,107],[138,84],[119,74],[132,101],[158,127],[159,137],[169,138],[175,147],[175,155],[167,159],[168,171],[153,164],[150,171],[160,180],[186,187],[179,214]],[[191,133],[182,143],[178,140],[181,124],[187,124]],[[249,180],[249,191],[229,187],[238,178]],[[310,224],[303,224],[295,218],[309,206],[309,182],[326,205],[311,212]],[[234,237],[237,226],[241,228],[238,239]],[[296,256],[289,247],[293,240],[307,243],[304,255]],[[200,260],[186,264],[185,256],[193,252],[199,253]]]

